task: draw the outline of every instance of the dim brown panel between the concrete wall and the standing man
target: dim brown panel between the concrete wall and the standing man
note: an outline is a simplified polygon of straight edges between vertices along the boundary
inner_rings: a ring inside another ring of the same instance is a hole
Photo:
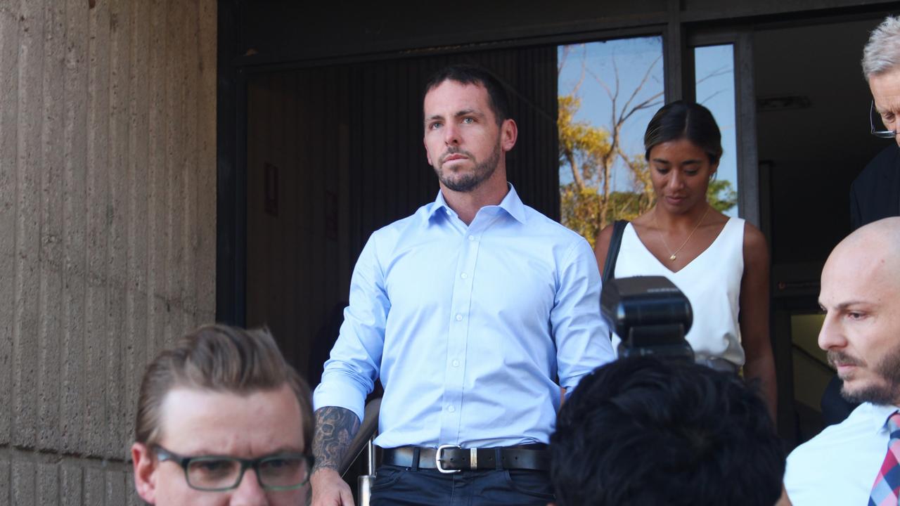
[[[324,68],[248,83],[247,325],[267,325],[302,375],[349,288],[350,82],[347,68]]]

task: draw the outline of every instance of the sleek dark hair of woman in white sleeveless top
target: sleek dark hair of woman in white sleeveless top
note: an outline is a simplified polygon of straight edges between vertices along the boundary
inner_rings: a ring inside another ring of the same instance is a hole
[[[644,132],[644,157],[650,159],[653,146],[670,140],[687,139],[709,157],[709,163],[718,163],[722,158],[722,133],[713,118],[713,113],[700,104],[678,100],[663,105],[653,114],[653,119]]]

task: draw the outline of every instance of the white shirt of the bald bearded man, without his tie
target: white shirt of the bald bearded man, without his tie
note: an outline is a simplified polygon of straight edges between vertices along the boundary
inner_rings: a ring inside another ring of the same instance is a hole
[[[785,487],[794,506],[865,506],[887,455],[887,418],[896,406],[864,402],[788,456]]]

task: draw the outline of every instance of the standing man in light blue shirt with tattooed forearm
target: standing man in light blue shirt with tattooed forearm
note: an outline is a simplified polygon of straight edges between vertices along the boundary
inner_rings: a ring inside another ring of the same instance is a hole
[[[314,394],[312,503],[352,504],[336,468],[380,377],[372,504],[543,505],[559,387],[613,358],[597,264],[507,182],[518,131],[496,78],[455,66],[426,90],[440,192],[375,231],[356,262]]]

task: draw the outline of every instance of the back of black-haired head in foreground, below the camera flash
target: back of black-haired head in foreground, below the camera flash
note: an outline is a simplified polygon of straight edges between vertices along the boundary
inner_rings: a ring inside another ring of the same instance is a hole
[[[772,506],[785,454],[734,375],[626,358],[585,376],[550,438],[557,506]]]

